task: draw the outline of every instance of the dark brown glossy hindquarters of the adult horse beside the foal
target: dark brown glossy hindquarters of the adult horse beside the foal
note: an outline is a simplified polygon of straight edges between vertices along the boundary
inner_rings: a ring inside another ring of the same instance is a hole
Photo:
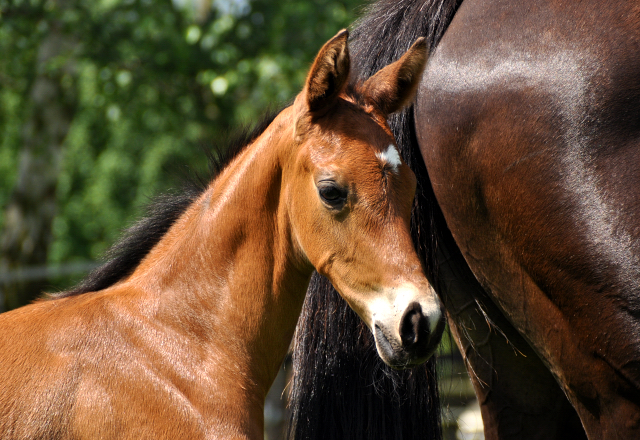
[[[354,35],[364,77],[434,47],[392,125],[487,438],[640,438],[640,4],[386,1]]]

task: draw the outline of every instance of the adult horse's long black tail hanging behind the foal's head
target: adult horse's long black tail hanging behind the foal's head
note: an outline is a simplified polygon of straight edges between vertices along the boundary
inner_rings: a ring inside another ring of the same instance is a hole
[[[418,37],[433,49],[462,0],[381,0],[352,32],[353,80],[397,60]],[[403,158],[418,178],[412,234],[427,275],[437,216],[417,149],[413,109],[389,121]],[[378,357],[371,332],[327,279],[315,274],[296,330],[288,437],[295,440],[439,439],[435,360],[397,371]]]

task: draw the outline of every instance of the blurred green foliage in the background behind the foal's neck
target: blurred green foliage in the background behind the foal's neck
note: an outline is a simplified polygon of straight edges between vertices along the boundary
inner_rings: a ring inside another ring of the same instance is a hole
[[[293,98],[360,3],[0,0],[0,206],[17,177],[37,75],[60,78],[74,115],[48,258],[97,259],[148,197],[176,185],[167,168],[202,170],[201,145],[222,148],[216,140],[230,127]],[[56,38],[64,47],[37,69]]]

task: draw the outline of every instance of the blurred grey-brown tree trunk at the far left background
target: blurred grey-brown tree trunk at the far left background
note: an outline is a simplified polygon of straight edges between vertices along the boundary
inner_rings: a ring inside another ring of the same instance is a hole
[[[23,19],[16,21],[15,27],[22,31],[30,30],[20,28],[29,22],[24,18],[36,11],[20,10]],[[28,110],[19,136],[22,149],[17,182],[5,210],[0,240],[0,270],[5,272],[46,262],[55,214],[55,188],[62,143],[75,111],[74,93],[62,87],[61,79],[73,69],[77,41],[64,31],[59,20],[51,20],[46,27],[40,27],[40,32],[42,38],[33,52],[33,59],[24,60],[31,68],[23,72],[28,84],[25,99]],[[22,45],[26,45],[25,42]],[[10,106],[12,97],[5,98]],[[43,283],[41,279],[17,281],[3,287],[0,299],[4,296],[6,307],[13,308],[23,302],[23,292],[38,292]]]

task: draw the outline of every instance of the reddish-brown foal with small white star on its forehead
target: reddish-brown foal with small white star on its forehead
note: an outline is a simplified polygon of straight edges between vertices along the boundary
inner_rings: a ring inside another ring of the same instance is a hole
[[[0,316],[1,438],[261,439],[314,269],[386,362],[431,353],[443,321],[409,236],[416,180],[386,124],[426,45],[352,90],[347,36],[126,276]]]

